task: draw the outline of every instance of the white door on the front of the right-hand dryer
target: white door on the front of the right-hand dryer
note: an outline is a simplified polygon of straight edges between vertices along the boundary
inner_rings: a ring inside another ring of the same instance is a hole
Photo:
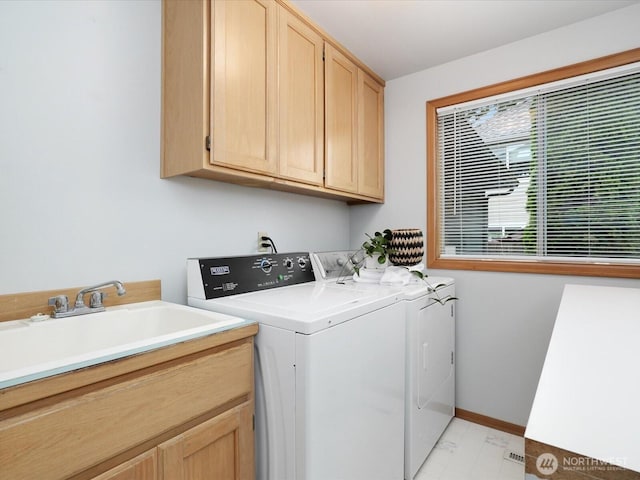
[[[433,395],[453,375],[455,322],[452,304],[433,302],[420,310],[415,338],[418,408],[425,408]]]

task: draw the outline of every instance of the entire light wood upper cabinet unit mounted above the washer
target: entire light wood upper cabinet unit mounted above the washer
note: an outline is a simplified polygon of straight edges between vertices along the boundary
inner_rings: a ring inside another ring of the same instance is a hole
[[[164,0],[161,176],[383,201],[384,82],[337,45],[286,0]]]

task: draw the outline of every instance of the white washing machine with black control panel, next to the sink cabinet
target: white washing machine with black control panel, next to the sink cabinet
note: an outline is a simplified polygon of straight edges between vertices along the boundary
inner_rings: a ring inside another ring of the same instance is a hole
[[[316,282],[308,253],[187,261],[188,303],[259,322],[260,480],[400,480],[405,305]]]

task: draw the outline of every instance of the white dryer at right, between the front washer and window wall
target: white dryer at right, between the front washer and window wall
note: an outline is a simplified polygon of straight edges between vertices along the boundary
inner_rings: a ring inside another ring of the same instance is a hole
[[[353,276],[353,252],[312,253],[316,277],[343,288],[388,289]],[[361,279],[361,283],[353,279]],[[448,277],[395,287],[406,316],[404,478],[413,480],[455,414],[455,284]]]

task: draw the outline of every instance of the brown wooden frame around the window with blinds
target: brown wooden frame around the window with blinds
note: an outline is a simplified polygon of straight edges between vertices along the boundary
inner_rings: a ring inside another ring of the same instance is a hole
[[[576,258],[575,261],[569,262],[552,258],[535,258],[531,260],[513,258],[504,260],[496,258],[441,258],[437,120],[438,108],[522,90],[638,61],[640,61],[640,48],[427,101],[427,267],[448,270],[640,278],[640,265],[638,264],[609,264],[595,262],[590,259]]]

